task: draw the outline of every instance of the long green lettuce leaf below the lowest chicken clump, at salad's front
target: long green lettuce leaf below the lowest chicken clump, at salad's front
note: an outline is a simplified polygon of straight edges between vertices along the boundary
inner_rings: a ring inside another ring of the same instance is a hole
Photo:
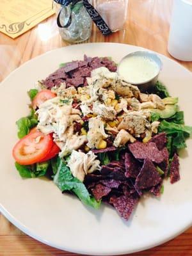
[[[72,175],[67,164],[60,157],[58,157],[56,166],[58,170],[54,176],[54,183],[58,188],[60,188],[62,192],[67,190],[72,191],[84,204],[92,206],[95,209],[99,209],[100,201],[97,202],[93,196],[90,196],[83,182]]]

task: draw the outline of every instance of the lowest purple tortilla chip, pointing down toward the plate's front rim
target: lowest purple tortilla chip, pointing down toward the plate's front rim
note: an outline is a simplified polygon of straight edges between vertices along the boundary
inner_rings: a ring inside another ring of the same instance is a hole
[[[129,220],[134,207],[138,204],[138,196],[112,196],[109,203],[115,207],[118,214],[124,218],[124,220]]]

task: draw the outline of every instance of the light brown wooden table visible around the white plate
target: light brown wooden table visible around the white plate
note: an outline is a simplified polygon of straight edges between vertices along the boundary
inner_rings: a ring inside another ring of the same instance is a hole
[[[129,0],[128,19],[124,31],[102,36],[94,27],[88,42],[120,42],[138,45],[172,58],[167,51],[172,0]],[[51,33],[40,33],[36,26],[12,40],[0,35],[0,81],[22,63],[44,52],[68,45],[58,34],[55,17],[42,22]],[[179,61],[192,71],[192,61]],[[182,218],[182,216],[181,216]],[[46,246],[23,234],[0,215],[0,255],[74,255]],[[172,241],[134,255],[192,255],[192,228]]]

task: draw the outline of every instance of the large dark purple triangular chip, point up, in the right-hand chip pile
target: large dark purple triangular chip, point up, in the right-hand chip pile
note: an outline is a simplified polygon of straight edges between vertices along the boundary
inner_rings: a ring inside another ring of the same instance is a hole
[[[151,188],[161,182],[161,177],[157,172],[156,166],[150,159],[145,159],[141,171],[136,177],[134,187],[138,190]]]

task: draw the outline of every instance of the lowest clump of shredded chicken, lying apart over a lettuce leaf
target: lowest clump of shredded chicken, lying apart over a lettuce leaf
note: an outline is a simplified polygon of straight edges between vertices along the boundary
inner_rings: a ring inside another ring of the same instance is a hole
[[[72,150],[67,165],[72,175],[83,182],[87,173],[100,170],[100,161],[96,160],[96,157],[92,151],[84,154],[81,151]]]

